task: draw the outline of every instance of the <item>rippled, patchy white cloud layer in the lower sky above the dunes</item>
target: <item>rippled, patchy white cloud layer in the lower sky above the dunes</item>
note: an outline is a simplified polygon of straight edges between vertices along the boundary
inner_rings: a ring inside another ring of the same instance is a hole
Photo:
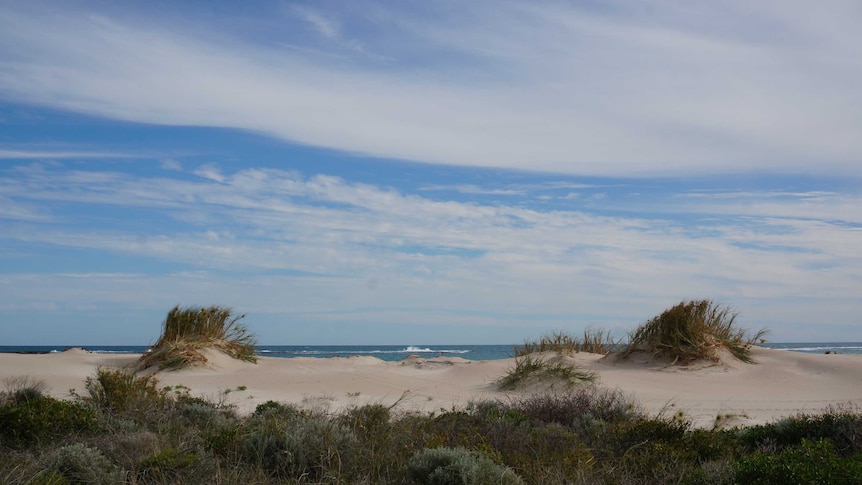
[[[692,222],[672,213],[621,217],[430,200],[275,169],[197,171],[218,177],[19,170],[14,183],[0,179],[0,196],[38,208],[47,218],[7,224],[2,238],[179,264],[205,272],[207,288],[237,304],[308,315],[343,311],[394,318],[406,308],[447,308],[458,314],[449,319],[457,323],[472,321],[469,315],[481,309],[505,308],[514,320],[535,326],[576,313],[607,315],[612,307],[616,316],[608,318],[622,325],[661,310],[653,308],[656,301],[709,295],[742,306],[750,318],[801,322],[811,312],[760,314],[753,302],[845,301],[862,287],[862,234],[830,222],[828,206],[811,220],[728,217],[719,204]],[[133,218],[76,229],[70,224],[86,216],[61,217],[59,208],[67,203],[135,210],[151,221],[151,229],[141,234]],[[799,201],[780,204],[776,212],[783,214]],[[14,276],[3,278],[22,284]],[[48,284],[45,277],[34,278]],[[152,278],[157,276],[142,281]],[[93,278],[106,279],[118,281]],[[278,284],[271,285],[274,279]],[[370,280],[376,282],[373,294]],[[189,291],[190,281],[178,277],[169,286]],[[76,284],[68,297],[102,287],[87,285]],[[62,300],[64,293],[57,291]],[[170,295],[167,289],[153,291]],[[295,300],[267,300],[283,291]],[[323,295],[338,296],[324,301]]]

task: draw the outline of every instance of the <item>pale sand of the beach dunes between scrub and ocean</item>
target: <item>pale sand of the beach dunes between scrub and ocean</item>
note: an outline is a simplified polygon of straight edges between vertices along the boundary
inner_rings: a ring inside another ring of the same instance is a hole
[[[682,411],[698,426],[759,424],[829,405],[862,406],[862,356],[805,354],[755,348],[757,364],[668,366],[645,357],[614,361],[579,353],[574,361],[598,375],[598,385],[619,388],[648,411]],[[51,354],[0,354],[0,380],[27,376],[44,381],[51,395],[69,398],[102,367],[133,367],[139,355],[99,354],[71,349]],[[240,412],[268,400],[337,411],[368,402],[405,411],[450,410],[471,400],[507,399],[495,381],[511,360],[469,361],[420,358],[385,362],[374,357],[275,358],[257,364],[211,352],[206,367],[157,375],[163,386],[183,385],[193,395],[225,399]],[[229,391],[225,393],[225,391]]]

